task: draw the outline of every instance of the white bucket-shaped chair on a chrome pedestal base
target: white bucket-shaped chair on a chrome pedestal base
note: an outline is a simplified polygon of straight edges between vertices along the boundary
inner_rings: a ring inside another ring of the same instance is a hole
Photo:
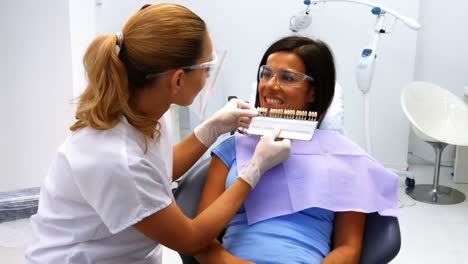
[[[435,84],[411,82],[403,89],[401,106],[415,134],[435,151],[433,183],[407,184],[406,193],[430,204],[463,202],[462,192],[439,185],[439,174],[442,151],[447,144],[468,146],[468,105]]]

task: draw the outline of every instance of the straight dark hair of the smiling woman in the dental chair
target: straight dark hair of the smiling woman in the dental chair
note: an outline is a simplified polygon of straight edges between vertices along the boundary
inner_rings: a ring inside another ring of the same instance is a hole
[[[318,113],[317,120],[320,125],[335,94],[336,72],[330,48],[320,40],[299,36],[285,37],[276,41],[267,49],[260,61],[258,70],[267,63],[268,56],[276,52],[290,52],[299,56],[304,63],[305,74],[314,78],[314,81],[309,83],[311,89],[314,89],[315,100],[307,110]],[[257,86],[259,81],[257,77]],[[259,106],[259,99],[257,89],[255,105],[257,107]]]

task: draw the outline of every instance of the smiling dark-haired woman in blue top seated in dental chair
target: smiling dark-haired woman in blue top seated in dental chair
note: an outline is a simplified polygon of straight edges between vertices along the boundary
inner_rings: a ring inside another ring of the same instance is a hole
[[[320,128],[334,95],[333,55],[328,46],[321,41],[305,37],[280,39],[270,46],[260,62],[257,87],[257,106],[317,112]],[[315,141],[320,139],[321,136],[317,131],[312,141],[316,138]],[[336,137],[337,142],[344,140],[344,137],[336,132],[327,134],[327,137],[328,139],[331,137],[332,140]],[[234,182],[237,171],[241,169],[239,166],[242,165],[240,164],[242,155],[252,154],[249,153],[249,149],[242,149],[241,142],[244,142],[244,145],[247,142],[247,145],[255,146],[255,143],[250,143],[249,140],[255,141],[256,139],[243,135],[229,137],[212,151],[213,158],[199,202],[198,213],[207,208]],[[310,144],[301,143],[301,141],[293,141],[293,143]],[[338,162],[341,163],[341,161]],[[304,163],[303,166],[309,166],[311,169],[320,165],[313,164],[313,161]],[[343,167],[341,164],[338,165],[340,166],[337,167]],[[293,173],[292,170],[284,171]],[[306,168],[306,171],[309,170]],[[275,174],[275,172],[270,174]],[[285,178],[283,176],[278,177]],[[327,175],[307,176],[310,178],[329,177]],[[281,186],[287,189],[288,185],[277,185],[274,191],[271,191],[272,185],[268,185],[268,181],[273,180],[274,177],[270,175],[263,177],[265,179],[259,182],[258,188],[252,191],[252,195],[249,194],[250,207],[246,201],[227,225],[223,244],[213,241],[209,249],[196,256],[198,261],[201,263],[358,263],[365,213],[371,212],[372,208],[366,208],[366,205],[362,207],[359,207],[360,205],[354,207],[354,204],[343,205],[341,202],[338,202],[338,205],[327,203],[327,200],[333,199],[322,197],[318,200],[324,200],[323,203],[320,201],[315,203],[317,199],[312,201],[316,206],[278,213],[277,208],[274,208],[276,204],[269,203],[269,201],[277,199],[276,191],[287,192],[288,190],[281,190]],[[333,182],[332,185],[339,189],[339,183],[335,185]],[[307,188],[307,193],[323,191],[321,190],[323,186],[307,185]],[[393,186],[390,189],[392,188]],[[294,188],[291,190],[294,191]],[[357,190],[354,195],[351,195],[359,196],[361,191]],[[354,197],[350,197],[350,200],[353,199]],[[250,215],[260,210],[255,208],[263,208],[262,213],[267,217],[249,218],[249,210],[251,210]]]

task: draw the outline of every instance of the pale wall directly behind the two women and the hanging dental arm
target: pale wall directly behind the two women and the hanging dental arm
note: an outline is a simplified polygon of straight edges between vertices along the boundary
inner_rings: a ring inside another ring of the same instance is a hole
[[[126,16],[148,1],[101,1],[98,32],[118,30]],[[303,9],[302,1],[169,1],[199,14],[208,24],[215,47],[228,56],[218,79],[218,90],[209,107],[220,107],[228,95],[248,99],[256,69],[265,49],[290,35],[291,15]],[[410,17],[418,16],[419,0],[375,1]],[[364,146],[363,100],[355,81],[355,68],[362,47],[370,39],[374,16],[370,8],[349,3],[314,7],[313,26],[306,32],[328,42],[335,53],[338,81],[345,89],[345,126],[348,136]],[[384,36],[371,90],[371,127],[374,155],[386,165],[406,168],[408,121],[400,107],[403,84],[414,76],[417,33],[396,23]],[[404,43],[404,45],[402,44]],[[397,127],[398,129],[394,129]]]

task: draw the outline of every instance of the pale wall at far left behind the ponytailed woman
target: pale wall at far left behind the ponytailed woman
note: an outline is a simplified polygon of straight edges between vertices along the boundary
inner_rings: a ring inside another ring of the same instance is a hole
[[[0,191],[39,186],[72,122],[68,1],[0,2]]]

